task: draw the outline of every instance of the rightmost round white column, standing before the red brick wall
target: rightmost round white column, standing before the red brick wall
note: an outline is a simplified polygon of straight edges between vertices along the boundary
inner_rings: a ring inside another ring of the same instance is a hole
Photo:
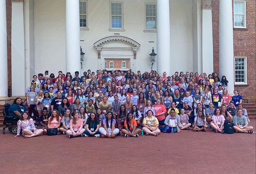
[[[219,49],[220,78],[225,75],[229,81],[228,92],[234,90],[234,48],[232,0],[220,0]]]

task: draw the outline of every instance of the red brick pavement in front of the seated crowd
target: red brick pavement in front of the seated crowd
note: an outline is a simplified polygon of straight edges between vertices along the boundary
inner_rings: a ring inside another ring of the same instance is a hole
[[[255,120],[250,125],[255,128]],[[255,173],[255,135],[208,129],[158,137],[25,139],[7,130],[0,132],[0,173]]]

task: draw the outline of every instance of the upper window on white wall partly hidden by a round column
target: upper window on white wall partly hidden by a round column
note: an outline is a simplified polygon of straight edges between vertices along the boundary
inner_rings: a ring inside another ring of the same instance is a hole
[[[80,29],[88,29],[88,20],[87,20],[87,0],[79,1],[79,18],[80,18]]]

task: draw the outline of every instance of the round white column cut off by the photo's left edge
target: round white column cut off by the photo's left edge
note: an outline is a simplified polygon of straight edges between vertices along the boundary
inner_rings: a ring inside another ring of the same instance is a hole
[[[0,82],[2,84],[0,97],[8,95],[7,78],[7,29],[6,29],[6,6],[5,1],[0,1]]]

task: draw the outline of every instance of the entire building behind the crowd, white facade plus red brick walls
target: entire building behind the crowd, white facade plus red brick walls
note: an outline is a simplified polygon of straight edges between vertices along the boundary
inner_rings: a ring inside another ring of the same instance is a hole
[[[227,76],[229,93],[237,89],[255,103],[255,0],[80,0],[80,4],[78,0],[3,1],[0,24],[5,27],[6,23],[6,33],[0,36],[0,69],[4,74],[0,81],[8,85],[2,86],[0,101],[10,100],[8,89],[12,98],[24,96],[34,74],[49,70],[56,75],[59,69],[48,66],[49,62],[72,73],[112,66],[149,71],[148,54],[154,47],[157,58],[153,69],[160,74],[163,70],[168,75],[175,71],[214,71]],[[74,17],[70,14],[76,13],[78,4],[80,11]],[[113,10],[115,5],[117,10]],[[148,14],[147,10],[153,13]],[[221,16],[231,19],[231,10],[232,28]],[[79,19],[74,20],[79,14],[80,28],[76,25]],[[113,17],[117,20],[111,20]],[[226,26],[232,31],[226,30]],[[224,38],[232,32],[233,37],[225,42]],[[76,48],[80,45],[86,53],[83,70]],[[181,66],[177,59],[185,63]],[[166,66],[169,64],[171,68]]]

